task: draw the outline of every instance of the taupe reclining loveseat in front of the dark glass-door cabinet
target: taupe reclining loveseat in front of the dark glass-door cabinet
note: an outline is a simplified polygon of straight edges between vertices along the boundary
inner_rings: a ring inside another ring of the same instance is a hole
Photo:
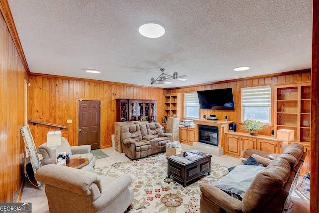
[[[160,123],[121,126],[122,149],[132,160],[166,151],[171,136],[171,133],[163,132]]]

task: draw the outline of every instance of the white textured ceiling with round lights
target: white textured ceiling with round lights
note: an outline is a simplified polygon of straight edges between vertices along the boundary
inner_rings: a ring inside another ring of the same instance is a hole
[[[171,88],[311,67],[312,0],[8,2],[31,73],[143,86],[160,68],[188,76],[152,85]],[[139,34],[152,21],[163,37]]]

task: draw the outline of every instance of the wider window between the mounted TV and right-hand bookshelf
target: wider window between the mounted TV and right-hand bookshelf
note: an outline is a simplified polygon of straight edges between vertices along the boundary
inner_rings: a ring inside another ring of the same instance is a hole
[[[241,88],[241,107],[242,122],[252,119],[270,124],[270,85]]]

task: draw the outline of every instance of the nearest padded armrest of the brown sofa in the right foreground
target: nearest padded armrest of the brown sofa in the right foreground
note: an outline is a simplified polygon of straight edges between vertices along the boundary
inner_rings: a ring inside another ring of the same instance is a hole
[[[200,191],[201,196],[204,196],[206,200],[226,210],[226,212],[242,212],[242,201],[231,197],[212,184],[201,184]]]

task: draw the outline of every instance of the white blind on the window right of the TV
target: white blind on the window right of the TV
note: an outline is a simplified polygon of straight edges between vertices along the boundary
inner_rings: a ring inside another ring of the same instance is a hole
[[[270,107],[270,86],[241,88],[242,107]]]

